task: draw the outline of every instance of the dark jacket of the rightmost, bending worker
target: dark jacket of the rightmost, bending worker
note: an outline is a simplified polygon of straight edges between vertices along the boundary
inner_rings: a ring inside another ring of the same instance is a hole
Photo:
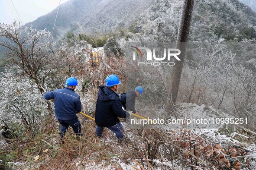
[[[121,104],[125,110],[133,111],[136,113],[135,110],[135,100],[137,94],[135,91],[127,91],[126,93],[121,94]]]

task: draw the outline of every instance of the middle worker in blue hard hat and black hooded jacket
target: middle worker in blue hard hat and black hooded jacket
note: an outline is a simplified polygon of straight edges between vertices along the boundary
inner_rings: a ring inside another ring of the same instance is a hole
[[[101,137],[104,127],[116,134],[119,141],[123,141],[123,126],[118,117],[130,116],[122,109],[119,95],[116,93],[121,82],[117,75],[107,76],[105,85],[101,85],[95,111],[96,135]]]

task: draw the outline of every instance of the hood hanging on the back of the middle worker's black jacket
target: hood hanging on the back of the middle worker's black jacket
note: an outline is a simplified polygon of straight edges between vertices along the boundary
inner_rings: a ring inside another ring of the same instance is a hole
[[[113,91],[107,88],[107,86],[101,85],[99,86],[98,98],[101,101],[110,101],[115,100],[118,95]]]

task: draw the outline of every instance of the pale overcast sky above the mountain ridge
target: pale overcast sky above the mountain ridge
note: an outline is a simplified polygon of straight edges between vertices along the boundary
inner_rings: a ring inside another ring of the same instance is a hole
[[[12,0],[23,24],[36,20],[56,7],[59,0]],[[0,0],[0,22],[19,21],[11,0]],[[68,0],[61,0],[61,4]]]

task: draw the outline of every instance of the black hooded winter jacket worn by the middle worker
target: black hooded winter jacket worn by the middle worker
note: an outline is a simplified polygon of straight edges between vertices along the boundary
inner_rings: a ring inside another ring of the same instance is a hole
[[[99,87],[95,111],[97,126],[108,127],[120,123],[117,117],[126,117],[119,96],[104,85]]]

